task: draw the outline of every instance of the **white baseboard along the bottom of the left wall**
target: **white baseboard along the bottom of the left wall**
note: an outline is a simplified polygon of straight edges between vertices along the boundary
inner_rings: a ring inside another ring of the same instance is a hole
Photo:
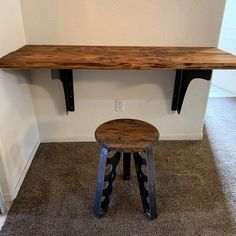
[[[10,192],[10,193],[3,193],[5,201],[13,201],[16,198],[16,196],[17,196],[17,194],[18,194],[18,192],[20,190],[20,187],[21,187],[21,185],[23,183],[23,180],[24,180],[24,178],[25,178],[25,176],[27,174],[27,171],[29,170],[29,167],[30,167],[30,165],[31,165],[31,163],[32,163],[32,161],[34,159],[35,153],[38,150],[39,144],[40,144],[40,139],[37,140],[37,142],[36,142],[32,152],[31,152],[31,154],[30,154],[30,156],[28,158],[28,161],[25,164],[25,167],[24,167],[24,169],[23,169],[23,171],[22,171],[22,173],[20,175],[20,178],[17,181],[17,184],[15,185],[14,190],[12,192]]]

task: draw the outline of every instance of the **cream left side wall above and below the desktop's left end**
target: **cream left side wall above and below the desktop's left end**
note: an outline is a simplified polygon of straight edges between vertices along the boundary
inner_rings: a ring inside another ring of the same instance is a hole
[[[19,0],[0,0],[0,57],[25,44]],[[39,143],[27,71],[0,69],[0,185],[16,196]]]

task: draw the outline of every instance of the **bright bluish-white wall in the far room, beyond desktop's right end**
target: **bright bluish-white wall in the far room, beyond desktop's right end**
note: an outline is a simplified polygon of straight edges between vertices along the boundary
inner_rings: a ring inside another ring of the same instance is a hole
[[[236,55],[236,1],[227,0],[220,32],[219,48]],[[236,70],[219,70],[212,83],[236,95]]]

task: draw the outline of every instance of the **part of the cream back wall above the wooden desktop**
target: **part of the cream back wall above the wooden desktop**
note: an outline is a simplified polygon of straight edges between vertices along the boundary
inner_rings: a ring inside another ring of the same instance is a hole
[[[216,45],[224,0],[21,0],[33,44]]]

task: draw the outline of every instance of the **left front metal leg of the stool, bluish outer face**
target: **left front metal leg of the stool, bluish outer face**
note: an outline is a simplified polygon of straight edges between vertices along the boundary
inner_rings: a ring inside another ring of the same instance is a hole
[[[96,196],[93,212],[97,217],[101,217],[107,211],[114,181],[120,160],[120,153],[116,152],[113,157],[108,158],[109,150],[102,147],[100,152]],[[111,165],[109,173],[106,174],[106,166]]]

